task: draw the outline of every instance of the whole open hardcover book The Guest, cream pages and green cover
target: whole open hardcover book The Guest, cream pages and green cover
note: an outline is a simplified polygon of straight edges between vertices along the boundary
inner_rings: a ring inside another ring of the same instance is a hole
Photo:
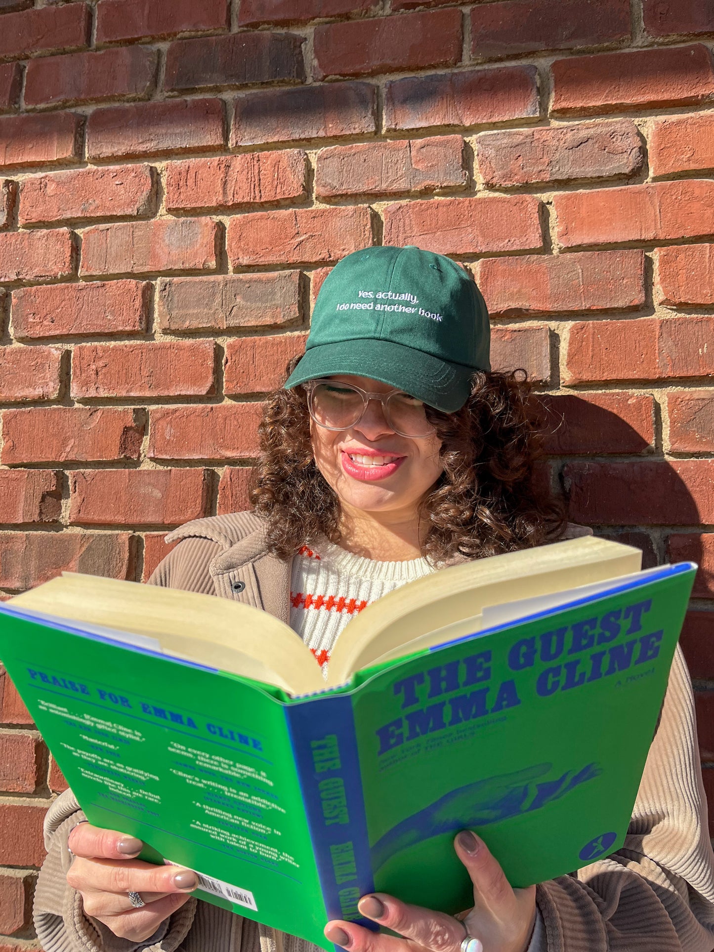
[[[0,658],[89,821],[326,949],[373,889],[455,913],[455,833],[514,886],[616,850],[696,565],[586,537],[445,568],[353,618],[327,681],[258,609],[64,574]]]

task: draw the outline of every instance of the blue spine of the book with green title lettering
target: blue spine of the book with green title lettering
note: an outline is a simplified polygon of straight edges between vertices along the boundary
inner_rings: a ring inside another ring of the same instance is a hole
[[[376,931],[357,908],[374,880],[351,699],[315,698],[285,710],[327,920]]]

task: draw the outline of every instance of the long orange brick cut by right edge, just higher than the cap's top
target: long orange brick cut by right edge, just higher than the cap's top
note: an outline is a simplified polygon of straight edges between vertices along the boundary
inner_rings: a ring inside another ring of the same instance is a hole
[[[714,181],[655,182],[553,196],[565,248],[698,238],[714,232]]]

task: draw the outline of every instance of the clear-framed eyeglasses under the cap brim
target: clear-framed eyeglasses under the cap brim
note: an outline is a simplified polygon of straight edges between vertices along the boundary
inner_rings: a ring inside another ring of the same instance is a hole
[[[402,390],[369,393],[354,384],[334,380],[311,380],[306,385],[307,408],[318,426],[339,430],[357,426],[367,412],[370,400],[382,405],[387,424],[400,436],[430,436],[434,427],[426,419],[421,400]]]

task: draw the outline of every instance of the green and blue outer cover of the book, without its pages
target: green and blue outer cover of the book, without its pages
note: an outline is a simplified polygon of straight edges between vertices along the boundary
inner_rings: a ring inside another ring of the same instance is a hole
[[[624,842],[695,568],[534,600],[300,698],[11,604],[0,657],[91,823],[330,949],[329,919],[374,927],[373,889],[469,906],[460,829],[514,886]]]

